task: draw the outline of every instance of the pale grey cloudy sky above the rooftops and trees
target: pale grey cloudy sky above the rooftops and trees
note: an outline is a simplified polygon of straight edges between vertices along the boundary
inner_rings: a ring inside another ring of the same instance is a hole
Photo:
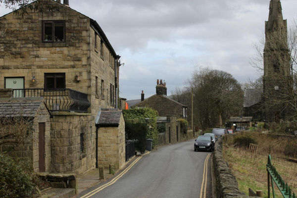
[[[63,0],[61,0],[63,2]],[[258,78],[249,64],[268,20],[270,0],[69,0],[96,20],[121,56],[120,97],[155,94],[157,79],[168,95],[198,66],[226,71],[240,83]],[[281,0],[283,17],[297,18],[297,0]],[[0,7],[0,15],[11,10]]]

